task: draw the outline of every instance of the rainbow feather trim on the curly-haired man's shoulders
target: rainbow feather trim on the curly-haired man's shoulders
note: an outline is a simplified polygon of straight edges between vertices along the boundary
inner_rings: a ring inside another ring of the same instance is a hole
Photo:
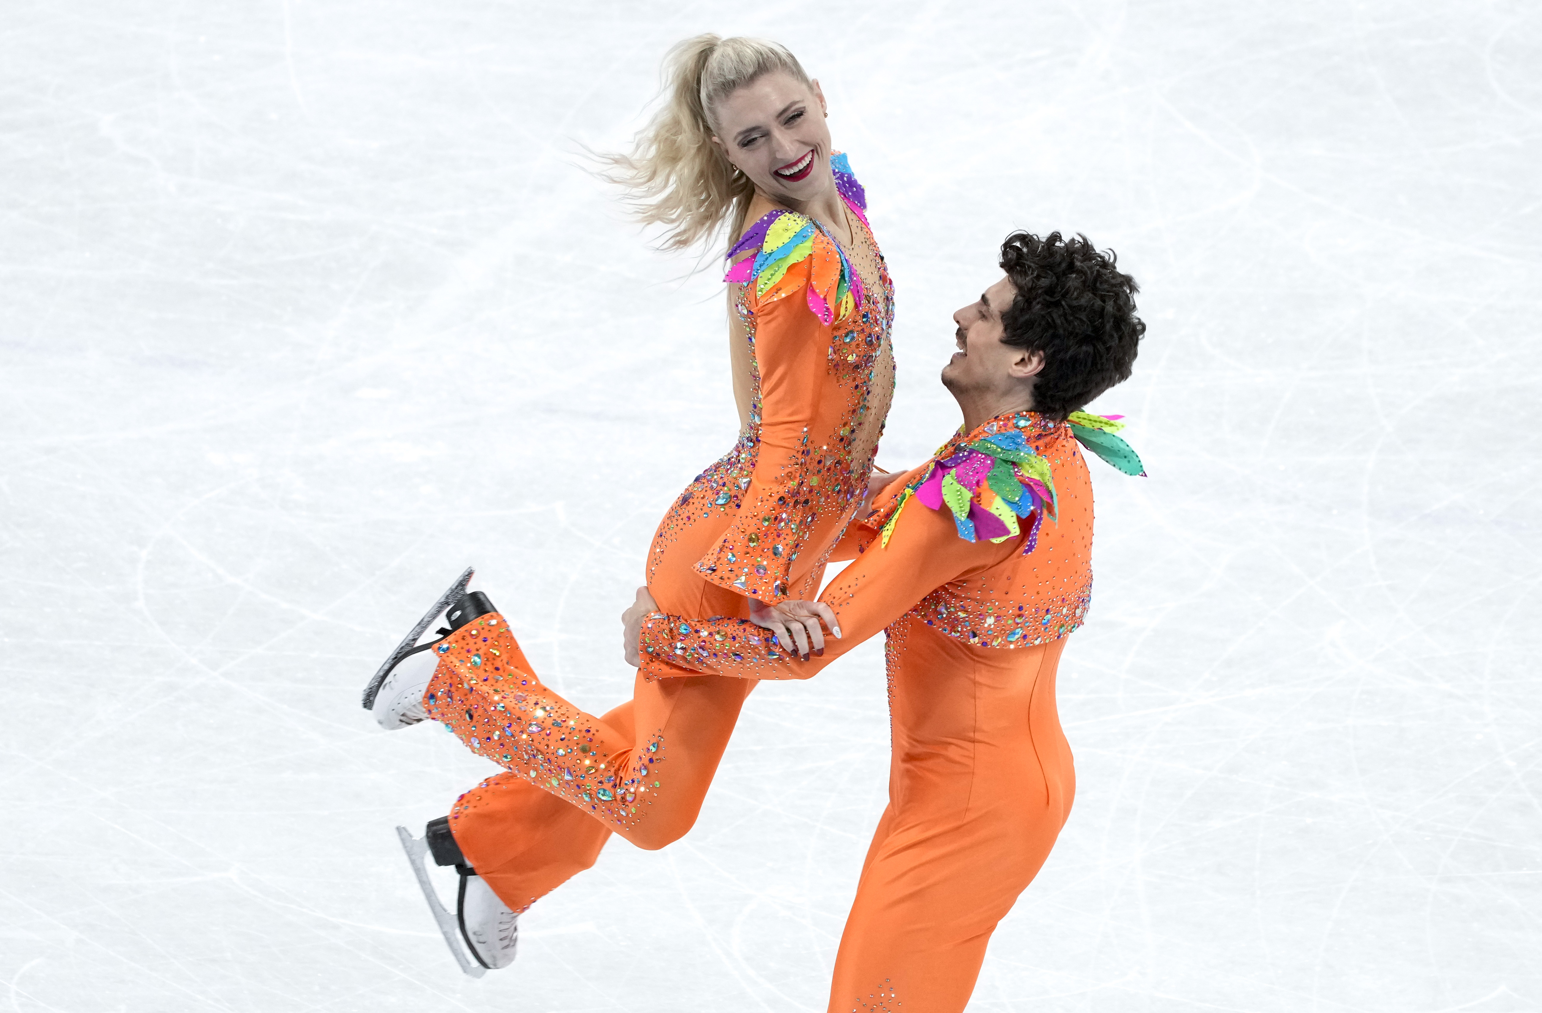
[[[868,523],[882,527],[887,546],[901,510],[919,500],[931,510],[944,506],[953,513],[959,538],[1002,543],[1022,533],[1019,520],[1027,521],[1029,537],[1022,555],[1039,544],[1044,515],[1055,517],[1055,476],[1050,463],[1029,443],[1029,435],[1049,436],[1067,426],[1076,441],[1126,475],[1144,475],[1140,456],[1116,433],[1124,429],[1119,415],[1103,416],[1072,412],[1064,422],[1035,412],[1016,412],[985,422],[975,432],[954,435],[921,478],[876,510]]]

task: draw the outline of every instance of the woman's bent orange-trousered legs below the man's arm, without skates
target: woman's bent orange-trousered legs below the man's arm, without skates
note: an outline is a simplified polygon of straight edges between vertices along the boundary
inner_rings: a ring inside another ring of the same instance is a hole
[[[500,614],[452,634],[429,717],[507,772],[461,796],[450,830],[472,867],[523,910],[594,863],[611,833],[662,848],[695,822],[752,680],[646,680],[603,717],[530,671]]]

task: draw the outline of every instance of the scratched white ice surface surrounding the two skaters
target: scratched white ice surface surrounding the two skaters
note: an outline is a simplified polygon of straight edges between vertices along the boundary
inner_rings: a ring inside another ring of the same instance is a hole
[[[1542,1008],[1519,0],[9,0],[0,1007],[823,1010],[876,646],[757,692],[695,831],[612,842],[480,982],[392,826],[487,766],[358,706],[467,563],[564,692],[628,691],[615,617],[734,415],[720,285],[580,145],[703,29],[830,97],[899,290],[888,466],[956,422],[1010,227],[1144,285],[1076,809],[971,1008]]]

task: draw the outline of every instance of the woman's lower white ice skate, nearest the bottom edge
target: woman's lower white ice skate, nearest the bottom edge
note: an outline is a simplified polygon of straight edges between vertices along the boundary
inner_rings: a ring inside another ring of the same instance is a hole
[[[436,823],[439,826],[435,826]],[[472,978],[481,978],[490,970],[513,964],[513,953],[520,942],[520,916],[498,899],[498,894],[492,891],[487,880],[466,865],[460,856],[460,848],[455,846],[453,839],[449,836],[446,823],[447,820],[433,820],[423,837],[413,837],[412,831],[406,826],[398,826],[396,836],[407,853],[407,860],[412,862],[412,871],[418,877],[418,885],[429,902],[433,920],[439,925],[444,945],[450,948],[450,954],[455,956],[455,962],[461,965],[464,973]],[[436,830],[441,833],[435,834]],[[446,848],[446,840],[449,840],[447,846],[453,850],[453,859],[458,860],[446,860],[446,856],[441,854]],[[439,894],[433,891],[433,883],[429,882],[429,868],[424,863],[424,857],[430,851],[436,863],[455,865],[455,870],[461,876],[455,914],[450,914],[439,904]],[[461,945],[463,942],[464,945]]]

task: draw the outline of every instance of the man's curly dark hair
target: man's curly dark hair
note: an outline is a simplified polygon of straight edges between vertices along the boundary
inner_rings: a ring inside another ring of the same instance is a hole
[[[1001,270],[1016,296],[1001,315],[1002,344],[1044,353],[1033,410],[1064,419],[1130,378],[1146,324],[1135,316],[1140,285],[1086,236],[1039,239],[1016,231],[1001,244]]]

